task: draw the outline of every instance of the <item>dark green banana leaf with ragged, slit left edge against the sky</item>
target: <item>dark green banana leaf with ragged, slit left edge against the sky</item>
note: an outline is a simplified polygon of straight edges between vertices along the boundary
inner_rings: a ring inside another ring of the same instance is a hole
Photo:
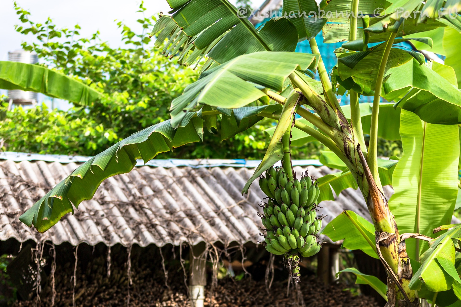
[[[180,64],[192,64],[204,56],[222,64],[251,52],[296,48],[298,33],[286,18],[272,19],[257,30],[227,0],[168,3],[172,7],[171,17],[162,16],[151,36],[158,33],[155,44],[165,44],[163,52],[170,58],[182,48]]]

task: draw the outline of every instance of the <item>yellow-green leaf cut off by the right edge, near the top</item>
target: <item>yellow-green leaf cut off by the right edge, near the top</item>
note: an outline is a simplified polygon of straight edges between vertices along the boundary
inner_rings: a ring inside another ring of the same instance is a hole
[[[457,78],[457,87],[461,88],[461,34],[453,28],[447,27],[443,34],[443,50],[445,51],[445,65],[453,67]]]

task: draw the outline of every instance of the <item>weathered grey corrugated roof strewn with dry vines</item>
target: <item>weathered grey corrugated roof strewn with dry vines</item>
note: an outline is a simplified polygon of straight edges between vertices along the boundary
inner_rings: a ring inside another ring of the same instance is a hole
[[[253,174],[250,168],[135,167],[128,174],[105,180],[95,197],[82,202],[75,214],[67,214],[44,234],[18,220],[38,199],[70,174],[78,163],[0,160],[0,240],[19,242],[51,240],[54,244],[104,243],[124,246],[151,243],[197,244],[201,241],[228,245],[261,240],[257,215],[264,194],[257,182],[247,195],[243,185]],[[296,166],[298,176],[306,168]],[[319,178],[333,171],[325,166],[307,167]],[[390,197],[392,188],[385,187]],[[360,193],[344,190],[335,201],[320,203],[318,215],[324,226],[343,210],[367,220],[370,216]]]

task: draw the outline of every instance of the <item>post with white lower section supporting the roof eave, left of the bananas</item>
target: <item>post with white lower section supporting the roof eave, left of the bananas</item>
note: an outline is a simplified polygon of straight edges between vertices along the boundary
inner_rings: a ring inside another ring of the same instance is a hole
[[[204,255],[205,242],[191,247],[190,260],[190,302],[191,307],[203,307],[207,285],[207,260]]]

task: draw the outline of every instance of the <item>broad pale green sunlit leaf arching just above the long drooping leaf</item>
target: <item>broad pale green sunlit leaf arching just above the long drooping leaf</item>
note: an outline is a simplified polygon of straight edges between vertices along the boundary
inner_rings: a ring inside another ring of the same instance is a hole
[[[239,108],[266,97],[260,88],[283,89],[284,81],[296,68],[315,67],[313,54],[299,52],[254,52],[207,70],[171,102],[172,125],[182,121],[186,110],[197,104]]]

